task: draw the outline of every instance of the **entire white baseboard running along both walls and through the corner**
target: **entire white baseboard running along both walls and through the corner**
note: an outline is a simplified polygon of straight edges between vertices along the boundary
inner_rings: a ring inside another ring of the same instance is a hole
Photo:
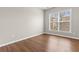
[[[11,41],[11,42],[8,42],[8,43],[5,43],[5,44],[1,44],[0,47],[10,45],[10,44],[22,41],[22,40],[26,40],[28,38],[32,38],[32,37],[35,37],[35,36],[38,36],[38,35],[41,35],[41,34],[50,34],[50,35],[62,36],[62,37],[67,37],[67,38],[72,38],[72,39],[79,40],[79,38],[77,38],[77,37],[71,37],[71,36],[65,36],[65,35],[59,35],[59,34],[51,34],[51,33],[40,33],[40,34],[32,35],[32,36],[29,36],[29,37],[21,38],[21,39],[15,40],[15,41]]]

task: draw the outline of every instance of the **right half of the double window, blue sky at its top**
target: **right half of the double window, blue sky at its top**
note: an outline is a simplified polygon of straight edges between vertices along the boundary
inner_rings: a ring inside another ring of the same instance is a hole
[[[60,12],[60,31],[70,31],[70,10],[65,10],[63,12]]]

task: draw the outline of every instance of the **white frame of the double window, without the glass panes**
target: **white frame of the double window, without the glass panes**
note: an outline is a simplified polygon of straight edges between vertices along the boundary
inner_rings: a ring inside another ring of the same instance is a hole
[[[60,13],[61,13],[61,12],[65,12],[65,11],[69,11],[69,12],[70,12],[70,15],[69,15],[69,17],[70,17],[70,19],[69,19],[69,24],[70,24],[70,25],[69,25],[69,31],[61,31],[61,30],[60,30],[60,25],[59,25],[60,22],[61,22],[61,21],[60,21]],[[57,22],[58,22],[58,30],[56,30],[56,31],[52,30],[52,29],[51,29],[51,26],[50,26],[50,25],[51,25],[51,17],[52,17],[52,14],[55,14],[55,13],[58,14],[58,21],[57,21]],[[72,25],[72,24],[71,24],[71,18],[72,18],[72,17],[71,17],[71,16],[72,16],[72,9],[66,9],[66,10],[62,10],[62,11],[59,11],[59,12],[50,13],[50,14],[49,14],[49,30],[50,30],[50,31],[53,31],[53,32],[72,33],[72,31],[71,31],[71,25]]]

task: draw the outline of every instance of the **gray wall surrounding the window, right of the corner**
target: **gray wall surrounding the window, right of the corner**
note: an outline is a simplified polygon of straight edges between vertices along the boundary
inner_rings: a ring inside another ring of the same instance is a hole
[[[71,16],[71,31],[72,33],[66,32],[53,32],[49,31],[49,14],[57,11],[63,11],[66,9],[72,9],[72,16]],[[44,12],[44,32],[50,34],[58,34],[58,35],[65,35],[70,37],[79,37],[79,8],[77,7],[56,7],[52,9],[48,9]]]

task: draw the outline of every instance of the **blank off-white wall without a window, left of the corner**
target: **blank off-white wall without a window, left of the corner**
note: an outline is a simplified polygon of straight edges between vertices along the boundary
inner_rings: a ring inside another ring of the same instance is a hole
[[[0,45],[43,32],[39,8],[0,8]]]

